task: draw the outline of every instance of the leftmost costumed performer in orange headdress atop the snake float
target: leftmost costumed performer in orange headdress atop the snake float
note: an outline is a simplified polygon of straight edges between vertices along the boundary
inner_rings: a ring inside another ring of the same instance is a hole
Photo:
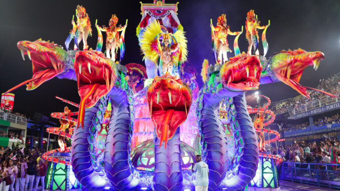
[[[87,37],[90,35],[92,36],[92,29],[90,18],[86,13],[86,10],[83,6],[77,6],[76,9],[76,16],[77,16],[77,44],[83,40],[83,50],[88,50],[89,46],[87,45]],[[72,20],[72,25],[75,25],[74,20]],[[77,45],[74,45],[74,50],[77,50]]]

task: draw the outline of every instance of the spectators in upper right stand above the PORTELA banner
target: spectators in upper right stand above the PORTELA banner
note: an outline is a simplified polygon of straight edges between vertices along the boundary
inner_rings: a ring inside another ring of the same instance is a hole
[[[333,75],[327,79],[322,79],[320,80],[320,83],[317,85],[316,89],[326,91],[328,93],[335,95],[337,92],[340,91],[340,77]],[[326,96],[323,93],[320,93],[317,91],[309,91],[309,90],[307,91],[310,93],[310,99],[304,96],[300,96],[300,98],[287,100],[287,103],[284,105],[280,105],[280,107],[276,109],[275,113],[282,113],[290,109],[294,109],[301,104],[305,104],[309,101],[320,99],[321,97]]]

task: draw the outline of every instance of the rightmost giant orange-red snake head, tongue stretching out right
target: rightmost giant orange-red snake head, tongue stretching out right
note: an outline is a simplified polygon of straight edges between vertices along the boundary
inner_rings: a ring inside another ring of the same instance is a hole
[[[302,49],[297,49],[293,51],[282,50],[281,52],[276,53],[271,58],[271,65],[268,66],[268,69],[278,80],[292,87],[294,90],[307,98],[310,98],[309,93],[307,92],[307,88],[335,97],[334,95],[327,92],[302,86],[299,84],[303,70],[307,66],[313,66],[316,71],[319,67],[320,61],[323,59],[324,55],[322,52],[319,51],[306,52]]]

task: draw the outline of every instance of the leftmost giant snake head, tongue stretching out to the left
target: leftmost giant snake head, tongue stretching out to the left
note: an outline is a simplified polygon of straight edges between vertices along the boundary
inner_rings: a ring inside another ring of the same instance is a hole
[[[26,90],[34,90],[68,69],[70,57],[61,46],[54,44],[54,42],[50,43],[41,39],[34,42],[20,41],[17,46],[23,59],[25,60],[25,55],[28,55],[32,61],[33,76],[32,79],[20,83],[6,93],[25,84]]]

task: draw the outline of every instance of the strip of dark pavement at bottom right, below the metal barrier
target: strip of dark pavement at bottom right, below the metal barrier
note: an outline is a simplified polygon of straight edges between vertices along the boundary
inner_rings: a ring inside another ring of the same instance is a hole
[[[280,190],[281,191],[309,191],[309,190],[316,190],[316,191],[333,191],[337,189],[331,189],[327,187],[318,187],[315,185],[309,185],[309,184],[301,184],[286,180],[280,180]]]

